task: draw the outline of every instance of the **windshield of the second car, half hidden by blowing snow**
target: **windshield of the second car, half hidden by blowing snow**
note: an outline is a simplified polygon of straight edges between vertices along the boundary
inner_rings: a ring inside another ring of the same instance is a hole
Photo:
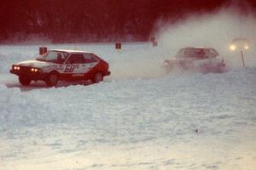
[[[176,58],[204,58],[203,48],[183,48],[178,51]]]

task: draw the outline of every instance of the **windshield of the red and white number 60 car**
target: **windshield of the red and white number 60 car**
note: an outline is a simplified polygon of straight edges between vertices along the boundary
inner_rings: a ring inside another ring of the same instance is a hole
[[[37,60],[63,64],[68,53],[61,51],[48,51]]]

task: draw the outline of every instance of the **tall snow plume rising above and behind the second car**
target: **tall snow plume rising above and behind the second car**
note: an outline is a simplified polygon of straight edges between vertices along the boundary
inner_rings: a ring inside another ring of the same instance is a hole
[[[194,14],[176,24],[159,20],[154,35],[157,35],[161,54],[170,58],[179,48],[211,47],[230,68],[240,68],[241,53],[231,52],[230,43],[234,38],[245,37],[250,42],[250,49],[243,52],[246,66],[255,66],[256,18],[248,11],[222,8],[212,14]]]

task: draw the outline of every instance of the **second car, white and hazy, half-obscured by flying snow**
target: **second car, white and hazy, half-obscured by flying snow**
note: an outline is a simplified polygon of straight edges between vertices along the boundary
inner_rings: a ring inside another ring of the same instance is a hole
[[[219,59],[218,55],[214,48],[181,48],[173,59],[166,59],[164,65],[166,71],[181,68],[204,73],[224,72],[224,59]]]

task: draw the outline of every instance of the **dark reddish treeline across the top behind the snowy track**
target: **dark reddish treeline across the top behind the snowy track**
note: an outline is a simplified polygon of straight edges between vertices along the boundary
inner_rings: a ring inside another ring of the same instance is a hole
[[[0,5],[0,42],[148,40],[157,20],[175,22],[227,5],[224,0],[9,0]]]

